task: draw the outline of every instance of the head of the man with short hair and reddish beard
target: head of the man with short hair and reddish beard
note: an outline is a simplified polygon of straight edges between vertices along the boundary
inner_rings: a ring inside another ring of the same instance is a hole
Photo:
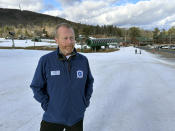
[[[75,34],[73,28],[67,23],[57,25],[55,40],[63,55],[70,55],[75,45]]]

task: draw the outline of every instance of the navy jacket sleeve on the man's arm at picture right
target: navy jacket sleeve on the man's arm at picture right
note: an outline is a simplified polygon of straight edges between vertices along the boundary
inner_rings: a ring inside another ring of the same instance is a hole
[[[87,107],[88,107],[90,104],[90,98],[93,92],[94,78],[91,74],[88,60],[87,60],[87,66],[88,66],[88,75],[87,75],[86,87],[85,87],[85,98],[86,98]]]

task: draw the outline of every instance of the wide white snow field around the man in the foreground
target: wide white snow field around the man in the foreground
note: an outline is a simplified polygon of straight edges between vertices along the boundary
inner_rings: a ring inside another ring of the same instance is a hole
[[[174,130],[175,62],[134,50],[84,53],[95,78],[85,131]],[[0,131],[39,130],[43,111],[29,85],[48,52],[0,50]]]

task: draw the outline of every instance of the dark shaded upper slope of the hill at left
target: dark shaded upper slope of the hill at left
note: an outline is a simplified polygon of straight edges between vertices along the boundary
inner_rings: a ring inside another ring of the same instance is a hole
[[[41,25],[44,23],[56,24],[60,22],[68,22],[63,18],[49,16],[41,13],[36,13],[27,10],[18,10],[18,9],[3,9],[0,8],[0,25]]]

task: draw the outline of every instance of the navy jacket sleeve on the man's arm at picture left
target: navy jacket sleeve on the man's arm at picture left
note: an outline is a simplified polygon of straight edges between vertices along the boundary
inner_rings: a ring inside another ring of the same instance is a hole
[[[30,87],[33,90],[34,98],[41,103],[44,111],[47,110],[49,96],[47,93],[47,83],[45,77],[45,68],[43,58],[41,57],[36,68]]]

